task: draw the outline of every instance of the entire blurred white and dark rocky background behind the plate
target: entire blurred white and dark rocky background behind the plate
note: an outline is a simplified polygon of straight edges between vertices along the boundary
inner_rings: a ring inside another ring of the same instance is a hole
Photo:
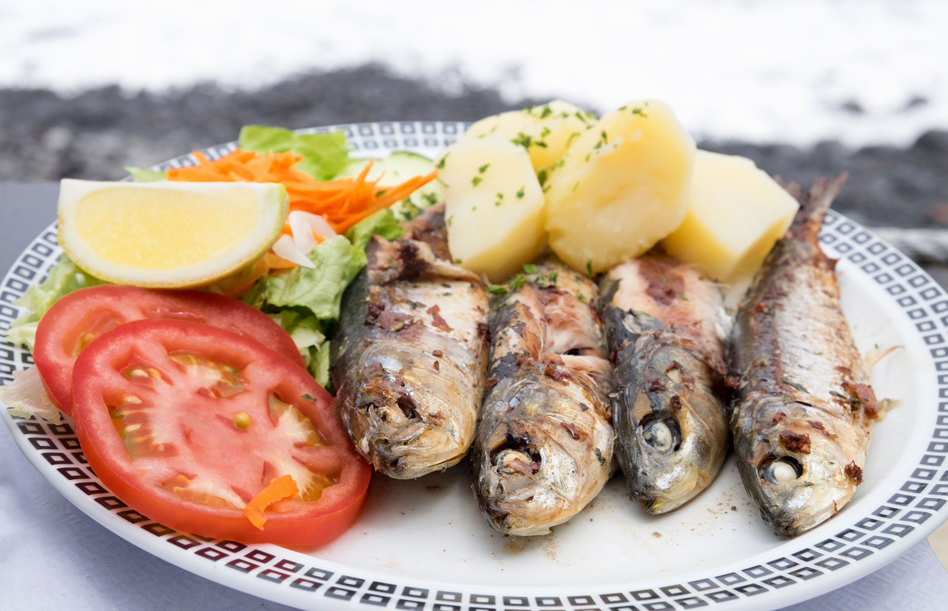
[[[654,97],[702,148],[848,171],[835,207],[946,285],[946,29],[923,0],[0,0],[0,181],[118,179],[247,123]]]

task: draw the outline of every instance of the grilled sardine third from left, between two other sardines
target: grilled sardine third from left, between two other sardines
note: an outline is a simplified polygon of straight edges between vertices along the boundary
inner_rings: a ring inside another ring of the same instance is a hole
[[[671,512],[718,475],[728,450],[723,393],[730,317],[720,290],[651,252],[600,282],[612,362],[616,458],[647,512]]]

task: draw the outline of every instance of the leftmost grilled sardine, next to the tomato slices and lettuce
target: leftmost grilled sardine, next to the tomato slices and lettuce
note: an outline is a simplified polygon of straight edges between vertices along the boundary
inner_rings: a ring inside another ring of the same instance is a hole
[[[339,416],[376,471],[424,476],[457,464],[474,439],[487,294],[448,259],[444,206],[392,242],[374,236],[367,255],[331,345]]]

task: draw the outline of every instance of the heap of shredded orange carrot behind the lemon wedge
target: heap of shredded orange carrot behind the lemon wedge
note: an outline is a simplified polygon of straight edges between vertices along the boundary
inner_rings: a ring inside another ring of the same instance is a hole
[[[302,157],[292,151],[264,155],[237,149],[214,161],[202,153],[195,151],[193,154],[197,165],[169,169],[169,180],[282,183],[289,196],[291,211],[319,214],[337,233],[345,233],[362,219],[408,197],[438,175],[437,171],[432,171],[425,176],[410,178],[401,185],[379,189],[378,180],[366,179],[372,161],[356,177],[319,182],[294,167]],[[290,233],[288,224],[283,226],[283,233]]]

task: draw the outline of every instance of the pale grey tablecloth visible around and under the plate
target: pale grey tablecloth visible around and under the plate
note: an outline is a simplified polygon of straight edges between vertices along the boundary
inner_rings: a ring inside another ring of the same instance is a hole
[[[0,183],[0,272],[56,213],[54,183]],[[73,507],[0,426],[0,608],[283,610],[158,560]],[[793,611],[948,608],[948,573],[927,542],[892,564]]]

